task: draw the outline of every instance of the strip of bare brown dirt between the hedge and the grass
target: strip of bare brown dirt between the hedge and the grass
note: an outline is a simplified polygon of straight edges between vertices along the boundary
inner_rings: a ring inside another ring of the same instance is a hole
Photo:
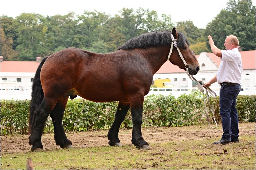
[[[239,124],[239,140],[243,141],[243,136],[255,136],[255,123]],[[66,132],[74,148],[107,146],[108,130]],[[184,126],[184,127],[147,127],[142,128],[142,136],[149,143],[165,143],[177,140],[212,140],[220,139],[222,126],[219,124],[215,129],[208,125]],[[31,145],[28,145],[29,135],[1,135],[1,155],[6,153],[31,152]],[[132,130],[121,129],[119,139],[122,145],[132,145]],[[42,136],[44,151],[61,149],[55,145],[54,134],[47,133]]]

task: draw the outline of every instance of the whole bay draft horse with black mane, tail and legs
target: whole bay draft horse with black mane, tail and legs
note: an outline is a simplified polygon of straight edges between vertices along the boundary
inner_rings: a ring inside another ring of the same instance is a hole
[[[172,48],[173,43],[177,48]],[[144,96],[150,90],[153,75],[167,60],[187,69],[181,54],[188,64],[188,73],[197,74],[200,66],[189,48],[188,39],[173,28],[172,32],[142,34],[112,53],[69,47],[45,57],[36,70],[32,85],[28,130],[31,151],[43,150],[41,137],[49,115],[56,145],[73,148],[65,134],[62,118],[68,98],[74,99],[77,95],[93,102],[118,101],[115,120],[108,131],[110,146],[121,146],[119,128],[131,108],[132,144],[148,149],[148,142],[141,134]]]

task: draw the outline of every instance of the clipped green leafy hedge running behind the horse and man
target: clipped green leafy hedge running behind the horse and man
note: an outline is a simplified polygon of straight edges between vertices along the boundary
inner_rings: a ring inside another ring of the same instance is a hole
[[[172,95],[145,97],[142,126],[184,126],[207,124],[203,94],[197,90],[175,98]],[[1,134],[27,134],[29,100],[1,100]],[[219,96],[210,97],[213,114],[207,105],[207,113],[213,123],[221,123]],[[118,102],[96,103],[85,99],[68,100],[63,117],[65,131],[109,129],[114,121]],[[238,95],[236,108],[240,122],[255,122],[255,95]],[[130,110],[121,128],[132,128]],[[53,132],[51,118],[45,122],[44,133]]]

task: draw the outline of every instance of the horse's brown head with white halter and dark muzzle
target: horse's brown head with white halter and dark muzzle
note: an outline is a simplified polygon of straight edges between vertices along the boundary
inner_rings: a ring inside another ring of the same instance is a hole
[[[189,74],[197,74],[200,66],[195,54],[188,46],[188,39],[185,37],[184,34],[180,32],[178,33],[176,31],[176,28],[172,29],[172,36],[172,53],[170,56],[170,62],[174,65],[179,66],[181,69],[187,70],[188,68]]]

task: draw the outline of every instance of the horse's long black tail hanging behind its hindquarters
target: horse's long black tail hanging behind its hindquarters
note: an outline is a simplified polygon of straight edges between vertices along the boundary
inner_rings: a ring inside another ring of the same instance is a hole
[[[31,100],[29,103],[29,123],[28,123],[28,134],[31,134],[32,132],[32,127],[34,126],[35,123],[35,110],[38,108],[38,106],[41,104],[43,98],[44,98],[44,91],[42,88],[41,80],[40,80],[40,72],[41,68],[45,62],[45,60],[48,57],[45,57],[41,63],[39,64],[35,77],[33,79],[32,83],[32,92],[31,92]]]

